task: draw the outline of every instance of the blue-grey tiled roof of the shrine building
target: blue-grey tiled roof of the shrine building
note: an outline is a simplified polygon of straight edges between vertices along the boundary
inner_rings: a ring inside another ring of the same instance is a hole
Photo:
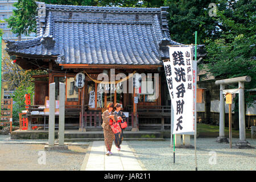
[[[158,65],[168,59],[166,7],[123,8],[39,3],[37,37],[6,41],[10,55],[55,56],[58,64]]]

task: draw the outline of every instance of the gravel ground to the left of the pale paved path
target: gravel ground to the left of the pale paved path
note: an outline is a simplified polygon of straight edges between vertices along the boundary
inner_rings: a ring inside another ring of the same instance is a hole
[[[0,135],[0,140],[9,140]],[[88,146],[68,146],[68,151],[45,151],[46,164],[39,164],[45,144],[0,143],[0,171],[80,170]],[[39,160],[39,162],[38,162]]]

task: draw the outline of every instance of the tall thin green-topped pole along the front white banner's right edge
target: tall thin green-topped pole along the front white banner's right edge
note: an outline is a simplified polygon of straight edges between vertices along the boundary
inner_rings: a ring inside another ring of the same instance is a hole
[[[193,70],[195,70],[195,77],[197,76],[197,31],[195,32],[195,64],[193,64]],[[195,142],[195,162],[196,162],[196,171],[197,171],[197,160],[196,160],[196,78],[195,78],[195,131],[194,131],[194,142]]]

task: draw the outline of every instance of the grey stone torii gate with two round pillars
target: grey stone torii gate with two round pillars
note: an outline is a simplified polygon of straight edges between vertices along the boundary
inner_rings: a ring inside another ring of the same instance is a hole
[[[238,148],[250,147],[250,143],[246,141],[245,133],[245,82],[250,82],[250,76],[242,76],[236,78],[229,78],[224,80],[215,81],[216,85],[220,85],[220,136],[217,137],[216,142],[228,142],[225,137],[224,127],[225,127],[225,101],[224,93],[226,84],[233,84],[238,82],[238,94],[239,94],[239,141],[236,142]]]

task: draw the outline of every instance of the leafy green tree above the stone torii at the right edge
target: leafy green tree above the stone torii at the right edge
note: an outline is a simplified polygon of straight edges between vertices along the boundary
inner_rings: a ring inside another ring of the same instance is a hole
[[[242,0],[223,2],[226,2],[226,9],[218,10],[217,16],[214,17],[221,24],[221,35],[218,39],[206,40],[208,54],[204,61],[204,69],[216,78],[250,76],[251,81],[245,82],[245,89],[254,89],[256,88],[256,2]],[[245,92],[247,107],[250,107],[254,100],[255,97]],[[238,111],[238,107],[235,111]]]

